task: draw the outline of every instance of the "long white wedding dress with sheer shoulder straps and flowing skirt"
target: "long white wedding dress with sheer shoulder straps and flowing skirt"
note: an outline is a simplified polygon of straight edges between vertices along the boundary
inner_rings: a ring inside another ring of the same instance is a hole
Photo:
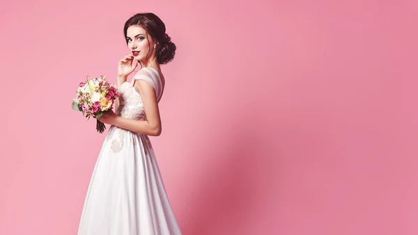
[[[136,79],[149,82],[159,102],[164,81],[157,70],[141,68],[119,88],[118,116],[145,120]],[[111,126],[104,139],[86,194],[78,235],[180,235],[147,135]]]

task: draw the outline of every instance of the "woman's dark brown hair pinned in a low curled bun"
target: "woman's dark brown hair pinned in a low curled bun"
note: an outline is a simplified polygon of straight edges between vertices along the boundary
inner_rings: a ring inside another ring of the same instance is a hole
[[[166,33],[164,22],[153,13],[138,13],[130,17],[125,22],[123,33],[127,43],[127,28],[132,25],[142,26],[155,42],[158,42],[155,48],[155,56],[160,64],[169,63],[174,59],[176,53],[176,45],[171,42],[171,38]],[[148,42],[149,43],[149,42]]]

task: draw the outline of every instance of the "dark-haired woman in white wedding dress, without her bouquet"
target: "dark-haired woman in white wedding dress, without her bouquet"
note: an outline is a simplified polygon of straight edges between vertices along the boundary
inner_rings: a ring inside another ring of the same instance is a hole
[[[169,63],[176,51],[165,31],[153,13],[125,22],[131,54],[119,61],[116,113],[105,112],[99,119],[111,126],[88,186],[79,235],[181,234],[148,139],[162,130],[160,64]],[[141,70],[127,82],[138,63]]]

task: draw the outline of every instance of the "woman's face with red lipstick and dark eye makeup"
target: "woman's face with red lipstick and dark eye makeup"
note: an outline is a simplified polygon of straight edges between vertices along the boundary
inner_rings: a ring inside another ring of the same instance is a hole
[[[137,61],[146,61],[153,54],[154,41],[144,28],[139,25],[132,25],[126,31],[127,47],[129,47],[134,59]],[[148,56],[148,57],[149,57]]]

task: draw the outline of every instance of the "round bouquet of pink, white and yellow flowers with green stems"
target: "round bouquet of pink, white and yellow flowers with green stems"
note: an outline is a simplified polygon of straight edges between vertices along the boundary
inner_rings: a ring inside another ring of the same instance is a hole
[[[105,76],[88,79],[89,76],[86,81],[79,82],[77,97],[72,100],[72,109],[82,112],[83,116],[86,114],[88,119],[100,119],[103,112],[113,108],[114,100],[120,95],[117,86],[107,82]],[[104,129],[104,123],[97,120],[96,130],[102,133]]]

